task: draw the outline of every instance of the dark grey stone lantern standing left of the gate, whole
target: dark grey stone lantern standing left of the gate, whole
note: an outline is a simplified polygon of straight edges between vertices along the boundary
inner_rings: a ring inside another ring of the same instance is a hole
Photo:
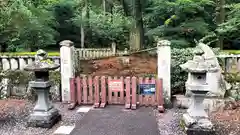
[[[33,71],[35,80],[29,82],[29,86],[37,93],[37,102],[30,114],[28,126],[51,128],[61,119],[58,110],[54,108],[49,99],[51,83],[49,71],[59,68],[60,65],[47,60],[47,53],[43,50],[37,51],[35,62],[27,65],[26,71]]]

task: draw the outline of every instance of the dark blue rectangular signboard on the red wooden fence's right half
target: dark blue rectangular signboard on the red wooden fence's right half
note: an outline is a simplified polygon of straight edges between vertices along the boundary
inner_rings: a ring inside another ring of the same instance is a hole
[[[141,95],[154,95],[156,91],[155,84],[139,84]]]

